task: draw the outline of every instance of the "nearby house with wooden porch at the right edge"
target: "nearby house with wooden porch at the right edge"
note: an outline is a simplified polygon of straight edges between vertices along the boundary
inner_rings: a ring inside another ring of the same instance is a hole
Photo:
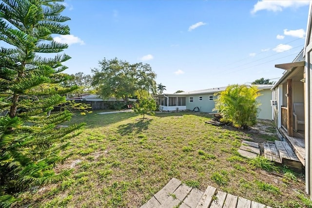
[[[304,49],[292,63],[275,65],[275,67],[286,71],[272,88],[273,100],[276,100],[274,121],[305,166],[306,191],[310,194],[310,198],[312,198],[312,141],[310,138],[312,135],[311,11],[312,3],[310,3],[309,8]],[[299,115],[304,118],[299,118]],[[300,122],[295,122],[298,119],[300,119]]]

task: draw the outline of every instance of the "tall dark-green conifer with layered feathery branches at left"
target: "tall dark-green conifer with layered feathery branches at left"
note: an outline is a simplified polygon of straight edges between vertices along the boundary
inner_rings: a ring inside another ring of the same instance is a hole
[[[59,86],[69,78],[62,72],[67,55],[59,53],[67,44],[52,35],[67,35],[69,27],[61,16],[61,0],[2,0],[0,3],[0,207],[17,201],[18,193],[34,186],[55,182],[71,170],[58,173],[54,167],[69,155],[60,151],[79,133],[83,124],[66,128],[68,111],[51,113],[65,102],[62,96],[77,89]],[[5,46],[5,47],[3,47]]]

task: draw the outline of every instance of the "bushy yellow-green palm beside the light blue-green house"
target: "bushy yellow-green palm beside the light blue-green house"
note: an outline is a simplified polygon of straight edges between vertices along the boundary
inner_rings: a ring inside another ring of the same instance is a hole
[[[246,129],[256,124],[260,105],[256,98],[260,95],[255,86],[229,85],[219,93],[214,110],[223,114],[221,121]]]

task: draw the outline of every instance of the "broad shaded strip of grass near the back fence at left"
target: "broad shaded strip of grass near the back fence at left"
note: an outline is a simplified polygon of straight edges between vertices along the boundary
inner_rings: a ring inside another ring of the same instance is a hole
[[[103,111],[94,111],[92,113],[87,113],[86,115],[80,115],[79,113],[76,113],[70,121],[67,121],[64,124],[71,125],[85,122],[85,128],[96,128],[107,126],[137,116],[137,114],[133,112],[98,114],[100,112]]]

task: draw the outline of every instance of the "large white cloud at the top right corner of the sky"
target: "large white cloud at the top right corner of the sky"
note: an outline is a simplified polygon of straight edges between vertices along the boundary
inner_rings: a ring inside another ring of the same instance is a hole
[[[254,4],[254,9],[251,13],[255,14],[261,10],[281,12],[283,9],[288,7],[298,8],[309,4],[309,0],[259,0],[256,4]]]

